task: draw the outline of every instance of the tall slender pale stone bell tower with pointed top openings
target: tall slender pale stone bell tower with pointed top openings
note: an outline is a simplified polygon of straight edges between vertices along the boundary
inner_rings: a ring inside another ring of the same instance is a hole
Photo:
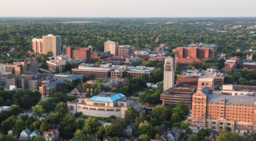
[[[168,90],[168,88],[174,88],[174,80],[175,80],[175,64],[174,58],[168,56],[165,58],[165,68],[163,73],[163,91]]]

